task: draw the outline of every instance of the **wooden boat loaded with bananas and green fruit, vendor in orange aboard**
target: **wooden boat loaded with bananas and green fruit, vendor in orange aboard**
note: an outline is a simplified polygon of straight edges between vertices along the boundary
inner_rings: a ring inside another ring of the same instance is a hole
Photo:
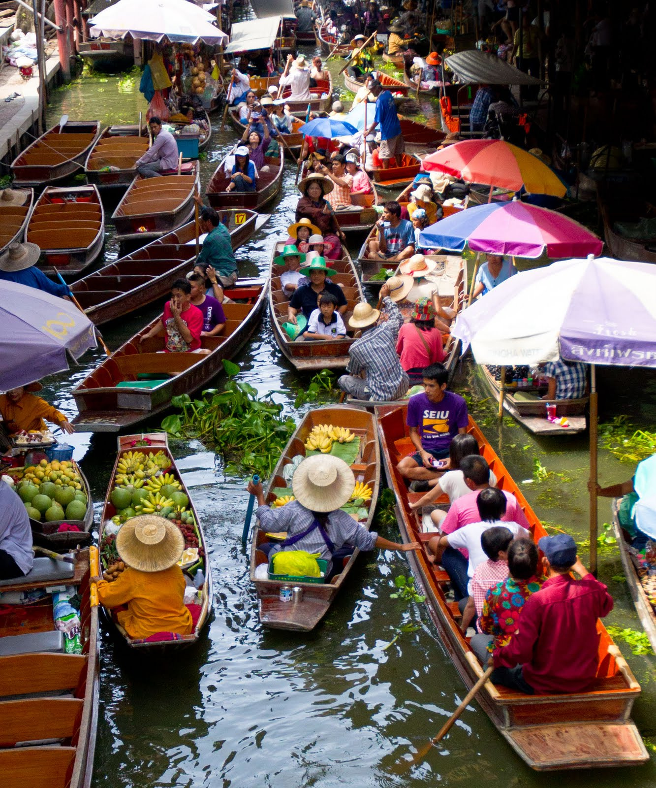
[[[209,622],[214,604],[212,570],[209,566],[209,560],[207,559],[207,542],[205,533],[203,533],[202,530],[201,519],[198,517],[198,511],[196,511],[194,502],[191,499],[191,493],[184,484],[182,474],[180,474],[180,470],[178,470],[176,467],[176,461],[173,459],[173,455],[169,449],[169,442],[165,433],[121,435],[117,438],[117,444],[117,459],[114,462],[111,481],[107,487],[105,504],[102,509],[102,525],[98,538],[100,571],[106,571],[107,567],[111,565],[111,563],[114,563],[111,557],[109,557],[107,554],[106,545],[109,541],[109,538],[106,535],[105,530],[106,526],[112,522],[113,516],[117,514],[116,507],[114,507],[114,504],[110,500],[110,496],[115,486],[114,479],[117,475],[117,466],[120,462],[120,459],[128,452],[142,452],[146,456],[149,452],[152,452],[153,454],[163,452],[171,462],[171,465],[166,470],[166,473],[172,474],[176,478],[176,481],[180,482],[180,491],[183,492],[189,499],[189,506],[187,509],[194,514],[194,519],[196,522],[196,536],[198,537],[198,547],[202,549],[202,553],[200,551],[198,553],[200,556],[198,561],[183,568],[183,571],[185,572],[185,579],[187,580],[187,585],[193,585],[194,577],[199,571],[202,571],[205,579],[200,589],[198,589],[201,597],[200,600],[198,600],[198,604],[195,604],[194,606],[187,605],[191,611],[192,618],[195,621],[194,631],[188,635],[178,635],[176,640],[169,640],[166,639],[166,637],[157,637],[157,635],[170,637],[170,633],[157,633],[157,635],[151,635],[150,637],[146,638],[145,641],[133,640],[132,637],[128,635],[124,628],[120,626],[117,620],[113,617],[111,611],[101,606],[100,609],[102,611],[103,618],[109,624],[114,634],[117,635],[117,640],[119,640],[121,644],[127,645],[131,650],[139,651],[141,653],[148,653],[152,652],[154,649],[158,651],[165,650],[166,652],[170,652],[172,649],[186,648],[187,646],[190,646],[198,641],[203,628]]]

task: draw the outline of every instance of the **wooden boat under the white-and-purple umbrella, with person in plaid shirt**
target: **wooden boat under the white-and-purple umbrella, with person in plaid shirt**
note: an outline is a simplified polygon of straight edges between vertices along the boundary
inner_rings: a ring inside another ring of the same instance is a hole
[[[491,374],[487,366],[479,365],[477,369],[486,390],[498,402],[500,396],[499,381],[495,380],[495,376]],[[534,394],[538,393],[537,388],[526,389],[526,391]],[[565,435],[582,433],[586,429],[587,419],[585,411],[587,402],[590,399],[588,396],[581,397],[578,400],[523,400],[521,397],[515,396],[518,393],[521,394],[522,392],[517,392],[517,388],[506,386],[506,392],[503,396],[503,407],[515,421],[526,427],[534,435],[558,435],[565,437]],[[547,422],[547,418],[545,418],[547,404],[556,406],[556,415],[558,418],[567,418],[569,427],[561,427],[558,423]]]

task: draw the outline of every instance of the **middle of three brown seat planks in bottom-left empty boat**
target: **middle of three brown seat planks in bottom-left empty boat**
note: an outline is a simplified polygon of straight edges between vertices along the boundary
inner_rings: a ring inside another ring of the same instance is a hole
[[[25,698],[0,702],[0,746],[43,739],[71,739],[84,701],[75,697]]]

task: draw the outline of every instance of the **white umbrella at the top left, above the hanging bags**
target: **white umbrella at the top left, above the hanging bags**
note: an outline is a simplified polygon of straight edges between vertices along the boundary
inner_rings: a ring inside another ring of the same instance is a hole
[[[90,21],[89,32],[115,39],[129,34],[147,41],[227,43],[228,36],[213,21],[211,13],[187,0],[119,0]]]

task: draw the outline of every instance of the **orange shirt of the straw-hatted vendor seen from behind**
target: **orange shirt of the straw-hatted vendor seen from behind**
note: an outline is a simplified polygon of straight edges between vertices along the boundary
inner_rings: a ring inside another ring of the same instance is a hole
[[[184,576],[176,564],[162,572],[140,572],[128,567],[114,582],[98,583],[98,600],[106,608],[127,604],[117,613],[120,626],[132,638],[156,632],[191,633],[191,613],[183,604]]]

